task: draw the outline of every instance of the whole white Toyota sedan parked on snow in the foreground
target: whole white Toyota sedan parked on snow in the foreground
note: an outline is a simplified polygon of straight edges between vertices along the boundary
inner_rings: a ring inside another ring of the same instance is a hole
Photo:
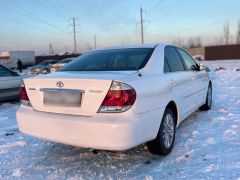
[[[184,49],[151,44],[87,53],[54,74],[24,79],[20,94],[23,133],[103,150],[147,142],[167,155],[176,127],[211,108],[212,83]]]

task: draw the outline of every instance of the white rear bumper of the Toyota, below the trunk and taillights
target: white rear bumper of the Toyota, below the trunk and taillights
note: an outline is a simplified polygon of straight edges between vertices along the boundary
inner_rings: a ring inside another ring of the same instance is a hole
[[[127,150],[156,137],[160,122],[151,118],[157,113],[139,116],[129,110],[85,117],[39,112],[22,105],[17,122],[21,132],[42,139],[86,148]]]

